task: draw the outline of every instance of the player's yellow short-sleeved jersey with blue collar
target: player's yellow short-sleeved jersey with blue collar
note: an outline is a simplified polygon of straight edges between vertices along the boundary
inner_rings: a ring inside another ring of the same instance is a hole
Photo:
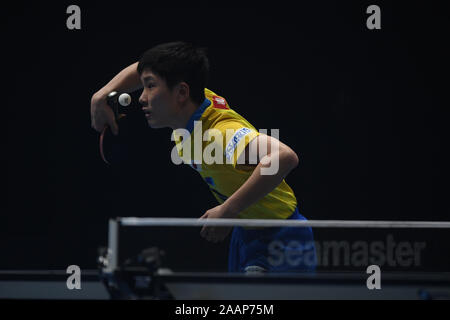
[[[260,133],[227,101],[205,89],[205,100],[184,131],[174,130],[175,156],[195,169],[223,203],[250,177],[254,166],[237,163],[245,147]],[[174,156],[174,154],[172,154]],[[239,213],[245,219],[286,219],[295,210],[294,192],[283,180],[262,199]]]

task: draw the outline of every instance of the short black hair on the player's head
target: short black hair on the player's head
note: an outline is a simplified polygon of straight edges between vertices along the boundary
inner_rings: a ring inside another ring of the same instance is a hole
[[[137,71],[149,68],[167,83],[169,89],[184,81],[189,85],[191,99],[201,104],[209,76],[209,61],[205,48],[186,42],[159,44],[147,50],[139,60]]]

